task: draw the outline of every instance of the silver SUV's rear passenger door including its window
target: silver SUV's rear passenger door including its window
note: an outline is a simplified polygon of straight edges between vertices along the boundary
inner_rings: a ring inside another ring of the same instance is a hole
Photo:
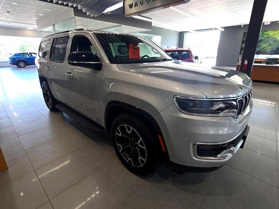
[[[49,61],[45,67],[46,71],[48,71],[48,81],[52,94],[65,104],[69,104],[64,79],[68,40],[69,36],[53,39]]]

